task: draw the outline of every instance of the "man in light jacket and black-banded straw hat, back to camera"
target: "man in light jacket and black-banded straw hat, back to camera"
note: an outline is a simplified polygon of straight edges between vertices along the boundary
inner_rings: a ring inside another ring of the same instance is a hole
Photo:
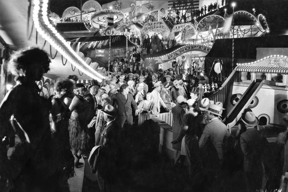
[[[208,109],[204,110],[204,116],[206,116],[207,120],[210,122],[205,126],[203,134],[199,140],[199,147],[202,148],[210,137],[211,143],[214,145],[218,153],[220,165],[222,165],[223,162],[223,139],[227,132],[226,125],[218,118],[219,116],[221,117],[221,109],[222,107],[219,105],[210,104]]]

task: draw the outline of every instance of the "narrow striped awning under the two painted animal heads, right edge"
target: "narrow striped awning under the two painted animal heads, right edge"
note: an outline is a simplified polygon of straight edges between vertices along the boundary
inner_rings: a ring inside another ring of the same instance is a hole
[[[238,65],[236,71],[265,72],[265,73],[288,73],[288,67],[268,67]]]

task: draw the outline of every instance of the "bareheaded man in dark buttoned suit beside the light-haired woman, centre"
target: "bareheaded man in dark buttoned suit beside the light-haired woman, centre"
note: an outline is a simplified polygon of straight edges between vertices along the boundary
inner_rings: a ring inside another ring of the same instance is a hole
[[[124,84],[120,87],[119,93],[111,96],[111,99],[117,101],[118,105],[118,125],[120,128],[123,127],[124,123],[127,122],[128,125],[133,125],[132,108],[135,110],[135,115],[138,115],[138,107],[133,98],[129,93],[129,86]]]

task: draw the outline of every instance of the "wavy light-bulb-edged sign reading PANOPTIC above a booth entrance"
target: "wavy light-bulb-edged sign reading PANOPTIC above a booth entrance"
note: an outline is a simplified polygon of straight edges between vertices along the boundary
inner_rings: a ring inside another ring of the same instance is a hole
[[[173,50],[171,50],[170,54],[161,56],[159,58],[145,58],[145,66],[149,66],[149,64],[152,64],[154,66],[155,64],[165,63],[174,58],[177,58],[178,56],[186,52],[199,51],[208,54],[210,50],[211,48],[205,45],[186,45],[177,50],[176,52],[173,52]]]

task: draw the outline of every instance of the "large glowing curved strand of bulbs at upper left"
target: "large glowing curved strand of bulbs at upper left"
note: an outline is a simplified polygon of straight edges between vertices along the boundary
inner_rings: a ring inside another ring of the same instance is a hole
[[[33,20],[35,28],[39,34],[83,73],[93,79],[102,81],[105,77],[86,64],[85,61],[76,54],[64,38],[56,31],[56,29],[49,24],[47,17],[48,0],[34,0],[34,4]]]

